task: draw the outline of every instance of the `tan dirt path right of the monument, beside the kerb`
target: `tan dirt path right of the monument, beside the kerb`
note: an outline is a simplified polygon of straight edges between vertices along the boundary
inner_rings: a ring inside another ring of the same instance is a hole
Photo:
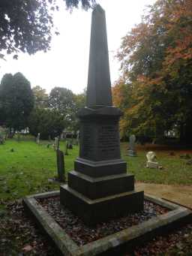
[[[192,185],[161,185],[136,182],[136,190],[163,197],[192,208]]]

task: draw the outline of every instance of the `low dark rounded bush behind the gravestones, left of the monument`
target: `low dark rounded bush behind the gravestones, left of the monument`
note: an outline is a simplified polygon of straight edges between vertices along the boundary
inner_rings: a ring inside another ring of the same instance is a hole
[[[36,107],[29,116],[28,127],[35,137],[40,133],[42,139],[48,139],[49,136],[54,138],[62,134],[65,123],[58,110]]]

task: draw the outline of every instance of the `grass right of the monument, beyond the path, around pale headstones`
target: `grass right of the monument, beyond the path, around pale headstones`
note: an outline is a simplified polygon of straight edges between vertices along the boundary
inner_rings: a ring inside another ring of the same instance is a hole
[[[153,149],[150,146],[142,147],[137,150],[136,157],[127,156],[127,144],[121,144],[121,152],[125,161],[127,161],[127,172],[133,173],[136,180],[142,182],[151,182],[158,184],[178,184],[192,185],[192,164],[187,164],[189,159],[180,158],[185,152],[192,158],[192,150],[187,149]],[[154,150],[157,155],[158,163],[163,167],[159,169],[148,169],[146,165],[146,153]],[[170,155],[174,152],[174,155]]]

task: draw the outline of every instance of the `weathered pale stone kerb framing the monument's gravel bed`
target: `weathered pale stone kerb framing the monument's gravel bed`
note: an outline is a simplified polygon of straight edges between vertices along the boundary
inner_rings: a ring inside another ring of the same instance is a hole
[[[108,251],[112,254],[113,250],[120,248],[121,245],[132,248],[134,245],[139,245],[139,242],[147,241],[165,230],[176,227],[176,224],[192,218],[190,209],[146,194],[145,200],[157,203],[170,211],[80,247],[36,200],[54,196],[59,196],[59,191],[31,195],[25,197],[23,203],[63,255],[88,256],[107,254]]]

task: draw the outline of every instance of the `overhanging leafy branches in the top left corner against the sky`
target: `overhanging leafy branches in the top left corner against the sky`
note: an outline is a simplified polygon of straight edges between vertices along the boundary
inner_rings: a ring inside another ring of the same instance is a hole
[[[95,0],[64,0],[68,9],[91,8]],[[58,10],[56,0],[1,0],[0,51],[34,54],[49,50],[53,31],[52,14]],[[58,32],[55,32],[58,33]],[[4,55],[1,53],[1,58]]]

